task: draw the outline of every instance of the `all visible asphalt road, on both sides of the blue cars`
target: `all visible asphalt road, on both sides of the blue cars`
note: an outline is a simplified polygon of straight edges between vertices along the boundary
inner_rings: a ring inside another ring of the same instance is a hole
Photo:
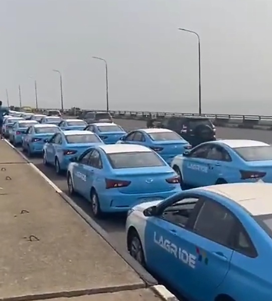
[[[135,128],[145,127],[146,122],[141,120],[124,120],[115,119],[115,122],[121,125],[126,130],[132,130]],[[255,139],[261,140],[267,143],[272,143],[272,133],[264,130],[250,130],[250,129],[237,129],[237,128],[217,128],[217,137],[226,139]],[[58,176],[55,174],[54,169],[45,167],[41,158],[31,158],[31,161],[49,178],[53,181],[63,192],[67,192],[67,183],[65,176]],[[73,200],[91,216],[90,205],[87,201],[79,196],[73,197]],[[125,215],[118,215],[108,217],[105,220],[97,223],[104,228],[105,231],[111,235],[114,241],[119,246],[125,248]]]

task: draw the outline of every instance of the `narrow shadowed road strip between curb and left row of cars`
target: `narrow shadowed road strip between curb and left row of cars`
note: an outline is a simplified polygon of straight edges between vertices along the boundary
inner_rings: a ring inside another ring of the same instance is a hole
[[[22,148],[19,148],[22,151]],[[53,167],[48,167],[43,164],[41,157],[35,156],[29,158],[29,160],[42,172],[44,173],[59,189],[68,195],[67,180],[65,175],[59,176],[55,173]],[[116,242],[116,244],[126,249],[125,239],[125,219],[126,214],[109,215],[103,220],[98,220],[93,217],[91,213],[90,203],[79,195],[70,196],[73,201],[82,208],[93,220],[95,220],[100,227],[102,227],[110,237]]]

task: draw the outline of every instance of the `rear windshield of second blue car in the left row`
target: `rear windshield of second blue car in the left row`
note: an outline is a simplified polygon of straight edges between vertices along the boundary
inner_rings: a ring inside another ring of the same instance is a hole
[[[165,166],[161,158],[153,152],[131,152],[107,155],[113,169]]]

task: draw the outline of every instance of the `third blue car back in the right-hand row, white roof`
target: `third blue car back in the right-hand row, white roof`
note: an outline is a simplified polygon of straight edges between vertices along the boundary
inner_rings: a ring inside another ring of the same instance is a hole
[[[119,125],[109,122],[92,123],[87,125],[85,130],[96,133],[105,144],[114,144],[126,134],[126,131]]]

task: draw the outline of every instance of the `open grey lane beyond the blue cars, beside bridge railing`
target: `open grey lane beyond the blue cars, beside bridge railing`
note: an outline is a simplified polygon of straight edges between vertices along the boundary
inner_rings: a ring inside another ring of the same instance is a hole
[[[146,121],[114,119],[114,122],[122,126],[125,130],[130,131],[136,128],[146,127]],[[249,128],[235,127],[216,127],[216,135],[221,139],[251,139],[272,143],[272,131]]]

